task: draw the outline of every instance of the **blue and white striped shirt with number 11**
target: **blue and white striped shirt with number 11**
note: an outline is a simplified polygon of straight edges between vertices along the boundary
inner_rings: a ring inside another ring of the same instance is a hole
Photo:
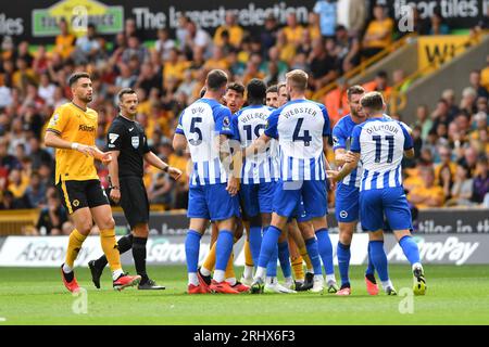
[[[360,153],[363,167],[360,191],[402,187],[401,162],[413,139],[403,123],[371,118],[353,129],[350,151]]]

